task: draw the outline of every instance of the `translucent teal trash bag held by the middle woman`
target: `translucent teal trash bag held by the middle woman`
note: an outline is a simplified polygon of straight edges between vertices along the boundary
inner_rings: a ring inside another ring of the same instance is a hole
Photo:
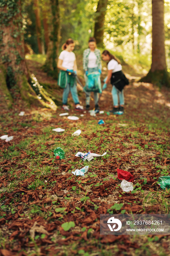
[[[85,84],[85,91],[90,92],[93,91],[94,93],[102,93],[101,89],[101,80],[100,80],[100,73],[99,72],[92,72],[87,75],[88,79]]]

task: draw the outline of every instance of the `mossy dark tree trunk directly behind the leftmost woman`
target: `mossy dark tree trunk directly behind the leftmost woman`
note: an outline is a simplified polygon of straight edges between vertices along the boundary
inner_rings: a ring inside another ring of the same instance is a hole
[[[48,75],[58,78],[57,57],[59,49],[59,1],[50,0],[51,3],[51,22],[49,27],[49,45],[47,50],[47,59],[43,66],[43,70]]]

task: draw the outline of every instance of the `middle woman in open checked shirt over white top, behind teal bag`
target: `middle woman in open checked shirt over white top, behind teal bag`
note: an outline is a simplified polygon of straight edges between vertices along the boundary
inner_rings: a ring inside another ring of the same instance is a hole
[[[83,69],[84,78],[87,80],[88,73],[99,72],[101,74],[101,53],[100,50],[96,48],[96,39],[90,37],[88,41],[89,48],[85,49],[83,52]],[[90,109],[90,93],[86,95],[86,110]],[[94,93],[94,104],[95,110],[98,110],[98,93]]]

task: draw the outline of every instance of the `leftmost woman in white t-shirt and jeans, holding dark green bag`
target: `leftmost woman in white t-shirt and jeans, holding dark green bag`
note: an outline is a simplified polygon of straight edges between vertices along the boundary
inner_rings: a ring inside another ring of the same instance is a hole
[[[77,74],[76,56],[72,52],[74,47],[74,41],[72,39],[67,39],[66,43],[62,46],[63,51],[58,57],[57,67],[61,70],[59,73],[58,82],[60,83],[59,85],[62,84],[62,87],[64,88],[62,97],[62,109],[69,111],[69,106],[67,106],[67,99],[71,91],[73,101],[76,105],[75,110],[84,111],[78,99],[75,76],[72,75],[73,73]]]

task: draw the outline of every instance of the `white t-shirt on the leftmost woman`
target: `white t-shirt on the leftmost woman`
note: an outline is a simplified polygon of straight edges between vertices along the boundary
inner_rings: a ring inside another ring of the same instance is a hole
[[[62,67],[66,69],[73,69],[74,61],[76,60],[76,55],[74,52],[68,52],[63,50],[60,54],[58,59],[62,60]]]

